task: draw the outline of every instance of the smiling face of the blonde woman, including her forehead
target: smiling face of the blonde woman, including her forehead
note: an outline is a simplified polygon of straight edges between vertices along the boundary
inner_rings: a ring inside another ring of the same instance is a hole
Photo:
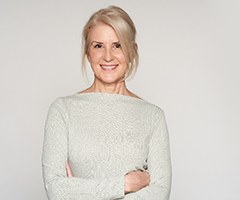
[[[91,28],[89,40],[87,57],[95,80],[109,84],[124,78],[128,65],[115,31],[99,23]]]

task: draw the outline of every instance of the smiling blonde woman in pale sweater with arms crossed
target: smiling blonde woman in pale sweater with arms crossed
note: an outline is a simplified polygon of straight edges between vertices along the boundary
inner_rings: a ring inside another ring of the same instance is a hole
[[[169,199],[164,113],[125,83],[138,63],[135,35],[128,14],[115,6],[85,25],[83,61],[94,81],[49,108],[42,155],[49,199]]]

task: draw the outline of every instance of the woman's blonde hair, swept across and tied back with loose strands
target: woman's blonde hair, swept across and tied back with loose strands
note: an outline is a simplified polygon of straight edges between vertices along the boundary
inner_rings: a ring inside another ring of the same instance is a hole
[[[89,32],[90,29],[97,23],[104,23],[113,28],[120,41],[123,54],[128,64],[128,70],[125,74],[127,79],[133,76],[138,67],[138,49],[136,40],[136,28],[130,16],[121,8],[117,6],[109,6],[95,12],[82,32],[82,72],[87,77],[86,71],[86,55],[90,46]]]

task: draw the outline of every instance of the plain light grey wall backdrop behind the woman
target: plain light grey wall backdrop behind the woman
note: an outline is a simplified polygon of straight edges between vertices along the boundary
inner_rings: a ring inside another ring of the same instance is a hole
[[[81,31],[108,5],[124,8],[138,30],[129,89],[166,113],[171,200],[240,200],[238,0],[0,0],[0,199],[47,199],[47,110],[88,87]]]

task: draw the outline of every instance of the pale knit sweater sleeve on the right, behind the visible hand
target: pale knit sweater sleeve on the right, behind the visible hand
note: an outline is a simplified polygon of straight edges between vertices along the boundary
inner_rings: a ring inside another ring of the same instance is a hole
[[[164,112],[158,108],[154,132],[149,143],[150,185],[125,196],[126,200],[168,200],[171,188],[169,136]]]

